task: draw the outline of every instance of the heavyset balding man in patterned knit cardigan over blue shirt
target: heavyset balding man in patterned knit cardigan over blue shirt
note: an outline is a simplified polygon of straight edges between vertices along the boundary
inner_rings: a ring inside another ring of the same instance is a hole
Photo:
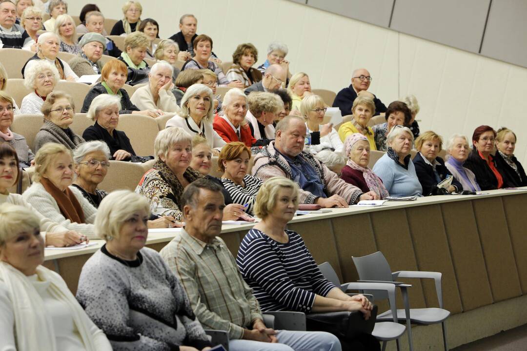
[[[286,116],[276,125],[276,139],[255,156],[252,175],[262,180],[281,176],[300,185],[301,204],[348,207],[359,200],[378,199],[375,192],[364,193],[344,182],[304,149],[306,123],[299,116]]]

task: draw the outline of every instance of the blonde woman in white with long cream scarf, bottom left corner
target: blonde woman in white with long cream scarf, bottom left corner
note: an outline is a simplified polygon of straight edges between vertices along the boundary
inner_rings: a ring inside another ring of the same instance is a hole
[[[0,206],[0,347],[111,350],[61,276],[42,266],[39,223],[24,206]]]

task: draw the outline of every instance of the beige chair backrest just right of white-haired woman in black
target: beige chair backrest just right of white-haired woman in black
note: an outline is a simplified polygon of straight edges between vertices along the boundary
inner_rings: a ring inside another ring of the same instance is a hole
[[[144,115],[121,115],[117,129],[126,133],[136,155],[153,156],[154,140],[159,132],[158,123],[154,118]]]

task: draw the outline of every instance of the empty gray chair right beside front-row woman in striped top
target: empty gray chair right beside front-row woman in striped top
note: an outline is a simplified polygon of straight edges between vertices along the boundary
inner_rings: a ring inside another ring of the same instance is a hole
[[[340,284],[340,280],[338,279],[337,273],[335,273],[335,269],[331,267],[331,265],[328,262],[324,262],[323,264],[320,264],[318,266],[320,269],[320,272],[328,279],[331,283],[335,284],[336,286],[340,287],[343,292],[346,292],[347,290],[380,290],[382,292],[386,293],[386,298],[388,298],[390,303],[390,308],[392,309],[392,313],[395,315],[395,285],[394,284],[387,284],[387,283],[345,283]],[[375,297],[372,298],[372,302],[374,302]],[[383,342],[383,348],[384,351],[386,349],[386,344],[390,340],[395,340],[397,344],[397,350],[401,349],[401,345],[399,345],[399,338],[404,334],[404,331],[406,327],[402,324],[399,324],[397,322],[397,319],[394,317],[393,322],[378,322],[379,318],[377,316],[377,322],[375,323],[375,327],[373,328],[372,335],[377,338],[377,340],[380,340]]]

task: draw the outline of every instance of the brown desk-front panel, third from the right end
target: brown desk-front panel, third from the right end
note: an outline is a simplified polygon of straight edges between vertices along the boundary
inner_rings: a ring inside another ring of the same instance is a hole
[[[492,304],[485,259],[472,204],[442,204],[443,222],[464,311]]]

